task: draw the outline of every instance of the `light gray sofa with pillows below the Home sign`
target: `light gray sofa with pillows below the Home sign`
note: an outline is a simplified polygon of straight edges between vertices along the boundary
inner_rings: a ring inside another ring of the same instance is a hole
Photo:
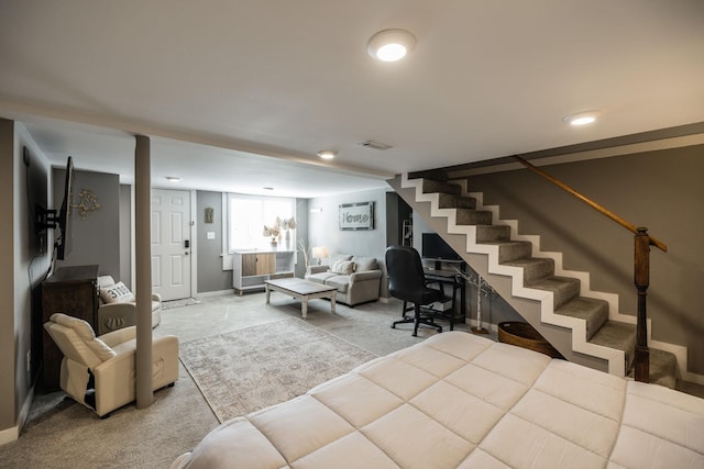
[[[330,265],[309,266],[305,278],[336,287],[336,301],[354,306],[378,300],[384,272],[375,257],[339,254],[331,257]]]

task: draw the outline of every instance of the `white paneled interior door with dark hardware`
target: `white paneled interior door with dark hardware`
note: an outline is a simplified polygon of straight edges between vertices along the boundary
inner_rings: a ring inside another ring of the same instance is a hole
[[[162,300],[191,297],[190,193],[152,189],[152,291]]]

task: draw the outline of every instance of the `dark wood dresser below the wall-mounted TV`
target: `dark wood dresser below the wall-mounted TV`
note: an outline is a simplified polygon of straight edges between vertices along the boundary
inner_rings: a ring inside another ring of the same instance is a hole
[[[62,267],[42,283],[42,324],[54,313],[79,317],[97,331],[98,266]],[[64,355],[42,327],[41,388],[44,392],[59,389]]]

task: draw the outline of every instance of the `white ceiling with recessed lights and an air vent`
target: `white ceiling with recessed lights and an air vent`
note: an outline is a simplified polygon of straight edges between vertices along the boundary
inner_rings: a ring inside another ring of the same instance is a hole
[[[373,60],[366,41],[389,27],[416,48]],[[602,119],[562,122],[585,110]],[[73,155],[124,181],[144,134],[155,186],[384,187],[704,122],[704,1],[2,0],[0,116],[26,123],[56,164]]]

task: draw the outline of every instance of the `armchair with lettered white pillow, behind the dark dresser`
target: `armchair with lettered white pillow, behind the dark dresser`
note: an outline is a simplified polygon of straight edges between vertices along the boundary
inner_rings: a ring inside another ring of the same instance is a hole
[[[136,325],[134,294],[121,281],[111,276],[98,277],[98,335]],[[162,297],[152,294],[152,328],[162,321]]]

